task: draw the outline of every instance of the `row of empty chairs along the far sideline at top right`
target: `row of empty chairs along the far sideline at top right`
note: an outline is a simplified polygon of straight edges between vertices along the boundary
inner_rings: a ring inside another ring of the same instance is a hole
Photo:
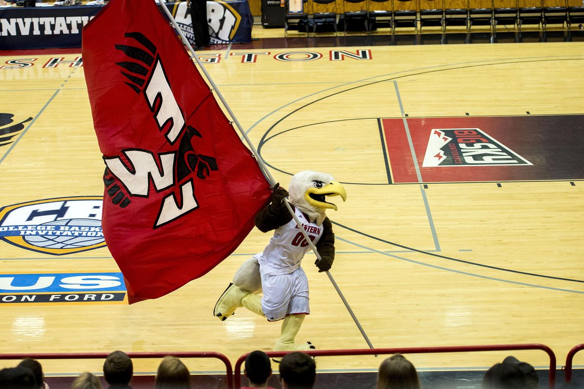
[[[558,24],[570,30],[572,24],[584,23],[580,0],[287,0],[284,34],[290,28],[305,33],[328,29],[373,31],[388,27],[424,26],[541,26]]]

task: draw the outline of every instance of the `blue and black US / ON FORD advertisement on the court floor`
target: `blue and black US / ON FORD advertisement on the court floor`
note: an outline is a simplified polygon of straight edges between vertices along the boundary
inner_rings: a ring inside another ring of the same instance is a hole
[[[121,304],[125,297],[121,273],[0,275],[0,304]]]

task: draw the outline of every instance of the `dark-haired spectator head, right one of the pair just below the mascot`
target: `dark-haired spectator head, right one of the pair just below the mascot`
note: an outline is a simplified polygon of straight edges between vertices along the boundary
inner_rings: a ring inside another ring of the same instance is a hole
[[[317,377],[317,365],[303,352],[291,352],[280,361],[282,389],[311,389]]]

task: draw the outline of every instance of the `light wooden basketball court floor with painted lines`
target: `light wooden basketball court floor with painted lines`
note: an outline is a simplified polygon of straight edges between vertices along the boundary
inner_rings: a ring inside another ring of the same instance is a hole
[[[328,212],[337,239],[331,274],[373,346],[541,343],[561,366],[569,349],[584,341],[584,43],[234,45],[199,54],[276,180],[286,186],[291,174],[311,169],[345,185],[347,201]],[[22,129],[2,132],[3,217],[22,204],[62,198],[99,204],[104,165],[80,56],[0,57],[0,113],[12,115],[4,115],[0,130],[22,122]],[[446,135],[480,130],[475,138],[488,136],[505,158],[528,163],[502,166],[503,158],[494,166],[432,166],[425,155],[436,146],[434,129],[450,131]],[[57,218],[47,209],[37,206],[33,216]],[[269,234],[253,230],[207,275],[129,306],[126,300],[65,300],[67,289],[57,284],[43,292],[61,290],[52,302],[20,302],[34,293],[26,286],[40,276],[58,281],[119,269],[99,244],[54,255],[39,241],[4,233],[2,288],[21,288],[2,289],[2,353],[217,351],[235,363],[243,353],[270,350],[279,336],[279,323],[245,309],[223,322],[212,315],[235,270],[263,249]],[[297,340],[318,349],[368,348],[312,257],[303,262],[311,315]],[[509,354],[408,359],[420,371],[484,370]],[[512,354],[541,369],[549,364],[541,351]],[[323,357],[317,369],[374,372],[383,358]],[[575,365],[584,365],[583,358]],[[100,372],[102,363],[43,366],[47,375],[75,375]],[[147,373],[159,361],[134,363],[135,372]],[[202,359],[186,363],[195,373],[223,369]]]

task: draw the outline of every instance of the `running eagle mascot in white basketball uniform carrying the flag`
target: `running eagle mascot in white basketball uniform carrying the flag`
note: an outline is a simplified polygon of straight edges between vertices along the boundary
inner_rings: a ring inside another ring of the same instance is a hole
[[[274,185],[272,201],[255,219],[260,231],[274,230],[272,239],[262,253],[239,267],[213,311],[216,317],[226,320],[236,309],[245,307],[268,321],[283,320],[274,351],[315,348],[310,342],[294,344],[304,318],[310,313],[308,280],[300,262],[311,248],[284,198],[288,197],[291,208],[317,247],[321,260],[317,259],[315,265],[319,272],[328,271],[335,259],[335,235],[325,211],[329,208],[336,211],[337,207],[326,202],[326,197],[340,196],[343,201],[347,198],[345,188],[330,174],[310,170],[294,174],[289,190]]]

